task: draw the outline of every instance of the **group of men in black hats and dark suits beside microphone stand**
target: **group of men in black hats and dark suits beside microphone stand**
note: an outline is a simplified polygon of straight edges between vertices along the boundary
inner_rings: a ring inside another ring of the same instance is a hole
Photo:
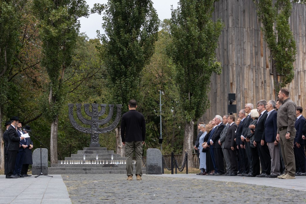
[[[32,161],[33,142],[22,135],[30,132],[30,126],[26,125],[22,131],[19,118],[14,116],[5,123],[6,130],[3,134],[4,141],[4,174],[8,179],[23,178],[28,175],[29,164]]]

